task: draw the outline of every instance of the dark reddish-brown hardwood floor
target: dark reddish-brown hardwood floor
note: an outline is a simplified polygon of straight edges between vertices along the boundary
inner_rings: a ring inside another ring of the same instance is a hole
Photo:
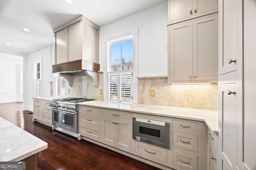
[[[42,123],[32,122],[33,114],[21,110],[22,103],[0,104],[0,117],[48,143],[48,148],[38,154],[40,170],[159,170],[88,141],[78,141],[53,131]]]

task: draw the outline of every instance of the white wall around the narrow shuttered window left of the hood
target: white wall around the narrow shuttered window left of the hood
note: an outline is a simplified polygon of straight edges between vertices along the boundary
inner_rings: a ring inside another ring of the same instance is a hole
[[[52,75],[53,46],[48,46],[24,57],[24,103],[23,110],[33,111],[34,97],[34,62],[42,60],[42,96],[50,96]],[[26,88],[25,88],[26,87]]]

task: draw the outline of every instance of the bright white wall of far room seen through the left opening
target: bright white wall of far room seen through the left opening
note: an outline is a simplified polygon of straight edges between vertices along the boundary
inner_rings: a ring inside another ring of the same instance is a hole
[[[22,102],[20,71],[23,58],[0,53],[0,103]]]

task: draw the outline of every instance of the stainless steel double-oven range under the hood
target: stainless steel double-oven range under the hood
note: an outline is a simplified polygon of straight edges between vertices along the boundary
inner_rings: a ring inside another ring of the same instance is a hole
[[[52,110],[52,129],[61,131],[73,137],[78,137],[77,113],[79,102],[94,99],[86,98],[59,98],[50,101]]]

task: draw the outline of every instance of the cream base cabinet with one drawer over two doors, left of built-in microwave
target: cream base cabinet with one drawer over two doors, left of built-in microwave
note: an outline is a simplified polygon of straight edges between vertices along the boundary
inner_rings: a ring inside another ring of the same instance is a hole
[[[131,113],[103,109],[102,140],[107,145],[130,151],[132,141]]]

